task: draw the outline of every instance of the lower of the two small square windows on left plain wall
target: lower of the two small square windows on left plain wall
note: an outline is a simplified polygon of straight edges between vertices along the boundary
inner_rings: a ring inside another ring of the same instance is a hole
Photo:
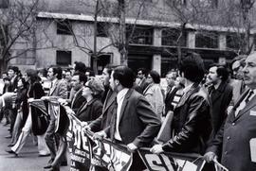
[[[56,64],[61,66],[68,66],[71,64],[71,51],[57,50],[56,52]]]

